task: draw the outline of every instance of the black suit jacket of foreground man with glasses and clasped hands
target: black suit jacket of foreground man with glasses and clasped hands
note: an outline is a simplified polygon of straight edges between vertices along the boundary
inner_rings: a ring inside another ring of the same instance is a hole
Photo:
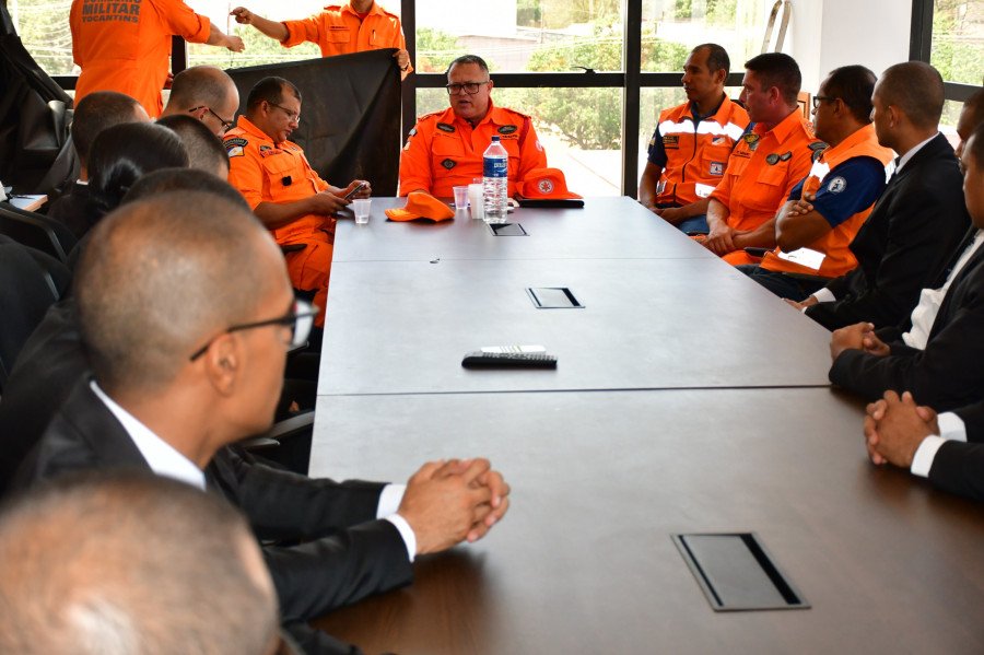
[[[82,379],[17,472],[16,487],[71,470],[150,471],[122,425]],[[383,484],[313,480],[221,449],[206,470],[210,489],[239,507],[263,547],[284,622],[309,620],[370,594],[407,584],[412,568],[399,531],[375,519]]]

